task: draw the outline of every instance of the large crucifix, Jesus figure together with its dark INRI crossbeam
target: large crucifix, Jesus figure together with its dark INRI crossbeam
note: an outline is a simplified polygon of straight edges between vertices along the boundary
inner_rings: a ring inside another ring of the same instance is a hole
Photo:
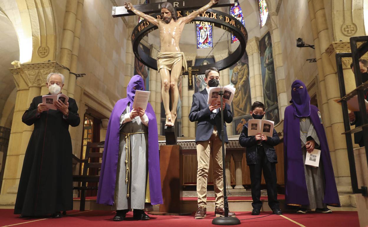
[[[124,3],[124,7],[127,10],[126,13],[121,11],[121,8],[113,8],[113,16],[127,16],[127,15],[138,15],[146,19],[149,24],[158,26],[160,31],[160,52],[157,56],[157,70],[161,76],[162,81],[162,101],[165,109],[166,121],[165,125],[167,127],[173,127],[174,122],[177,117],[177,105],[179,99],[179,91],[177,87],[177,81],[180,74],[183,71],[187,71],[187,62],[185,60],[184,53],[179,49],[179,41],[181,32],[184,29],[184,25],[191,22],[193,19],[199,16],[201,13],[205,13],[213,5],[219,3],[219,0],[180,0],[144,4],[133,6],[131,3]],[[198,8],[203,4],[203,1],[207,2],[205,6],[199,8],[199,10],[194,10],[185,17],[177,18],[176,8]],[[222,4],[227,6],[230,0],[221,0]],[[231,0],[234,1],[234,0]],[[224,5],[220,5],[224,6]],[[137,8],[135,8],[137,7]],[[139,11],[138,9],[143,10]],[[161,18],[154,18],[147,13],[161,12]],[[190,71],[191,72],[191,71]],[[171,95],[171,110],[170,110],[170,96]]]

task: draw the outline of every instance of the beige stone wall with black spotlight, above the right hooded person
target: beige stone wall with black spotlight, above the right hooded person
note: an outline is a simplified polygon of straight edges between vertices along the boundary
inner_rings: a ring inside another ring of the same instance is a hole
[[[316,58],[315,51],[309,47],[299,48],[296,46],[297,38],[302,38],[305,43],[314,45],[308,2],[283,0],[277,17],[286,96],[289,101],[291,99],[291,84],[295,79],[300,79],[309,85],[318,74],[317,64],[306,61],[308,58]]]

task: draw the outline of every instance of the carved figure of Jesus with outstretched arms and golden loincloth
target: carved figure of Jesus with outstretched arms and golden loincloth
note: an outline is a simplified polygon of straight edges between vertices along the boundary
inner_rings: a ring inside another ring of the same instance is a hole
[[[173,5],[164,2],[160,6],[161,19],[151,17],[135,9],[131,3],[124,3],[127,10],[131,10],[139,17],[146,19],[149,23],[158,26],[160,31],[160,53],[157,56],[157,70],[161,76],[162,88],[161,95],[165,109],[167,127],[174,126],[177,117],[176,109],[178,106],[179,91],[178,78],[183,71],[187,70],[187,61],[184,53],[180,52],[179,41],[184,25],[191,22],[199,14],[205,12],[219,0],[210,0],[208,4],[199,10],[193,11],[186,17],[177,18]],[[171,89],[171,111],[169,108],[169,90]]]

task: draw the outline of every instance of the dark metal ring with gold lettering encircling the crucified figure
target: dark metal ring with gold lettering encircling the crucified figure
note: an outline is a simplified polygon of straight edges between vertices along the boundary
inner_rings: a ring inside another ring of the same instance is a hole
[[[183,17],[183,15],[188,15],[192,13],[192,11],[193,10],[179,10],[177,11],[177,15],[178,17]],[[152,17],[160,19],[161,15],[159,13],[156,13],[153,14]],[[192,22],[195,23],[200,21],[208,22],[213,26],[222,28],[226,31],[233,33],[233,35],[236,36],[236,38],[239,40],[240,45],[233,53],[231,53],[223,60],[208,65],[192,66],[192,70],[195,69],[199,70],[196,71],[196,74],[204,74],[206,69],[209,67],[216,67],[219,70],[224,70],[226,68],[229,68],[231,65],[235,64],[238,60],[240,60],[240,58],[243,56],[245,52],[245,46],[247,45],[248,41],[248,32],[240,21],[238,21],[236,18],[234,18],[229,14],[213,9],[208,9],[205,13],[201,13]],[[150,57],[142,50],[141,47],[139,47],[139,43],[141,42],[142,38],[155,29],[158,29],[158,27],[153,24],[150,24],[147,20],[144,19],[133,29],[131,39],[133,44],[134,55],[139,59],[139,61],[141,61],[149,68],[157,70],[156,59]]]

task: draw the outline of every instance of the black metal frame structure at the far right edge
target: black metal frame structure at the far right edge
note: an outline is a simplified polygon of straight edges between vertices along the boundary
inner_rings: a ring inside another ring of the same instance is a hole
[[[358,47],[358,43],[360,46]],[[362,194],[364,196],[368,196],[367,186],[361,186],[358,188],[357,181],[357,172],[355,169],[355,159],[354,159],[354,151],[353,151],[353,141],[351,139],[351,134],[359,131],[363,131],[363,140],[365,141],[365,154],[367,155],[367,163],[368,163],[368,117],[367,110],[365,108],[365,99],[364,99],[364,90],[368,88],[368,81],[362,83],[362,75],[360,72],[359,66],[359,58],[361,58],[365,53],[368,52],[368,36],[357,36],[350,38],[350,47],[351,53],[337,53],[336,54],[336,66],[337,66],[337,78],[339,79],[339,88],[340,88],[340,97],[339,102],[342,104],[343,110],[343,119],[344,119],[344,129],[345,138],[346,138],[346,146],[347,146],[347,154],[349,160],[350,167],[350,177],[351,177],[351,186],[353,188],[354,194]],[[353,58],[353,66],[354,66],[354,75],[355,75],[355,84],[356,88],[350,93],[346,94],[345,91],[345,82],[343,75],[343,67],[342,67],[342,58],[351,57]],[[350,100],[355,95],[358,96],[358,104],[360,109],[360,116],[362,117],[363,124],[360,127],[355,127],[353,130],[350,130],[350,121],[348,117],[348,108],[347,101]]]

